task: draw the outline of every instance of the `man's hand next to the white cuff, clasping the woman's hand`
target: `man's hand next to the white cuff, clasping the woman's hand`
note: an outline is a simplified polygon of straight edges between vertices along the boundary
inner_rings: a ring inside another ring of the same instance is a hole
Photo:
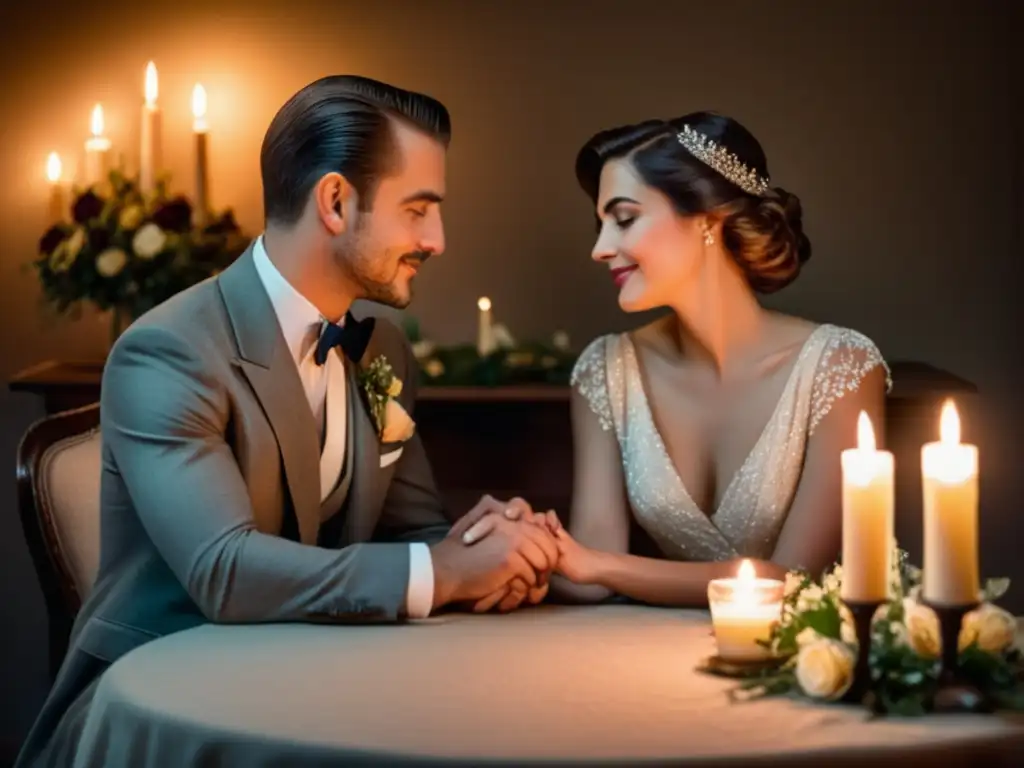
[[[486,509],[481,511],[481,506]],[[431,547],[434,608],[479,600],[513,580],[521,580],[527,590],[535,589],[538,573],[546,577],[555,567],[558,549],[551,534],[540,525],[509,520],[504,512],[507,507],[489,498],[481,500],[466,515],[473,514],[476,519],[482,515],[489,520],[481,539],[467,537],[474,523],[471,518],[460,520],[444,540]],[[487,514],[496,509],[501,513]]]

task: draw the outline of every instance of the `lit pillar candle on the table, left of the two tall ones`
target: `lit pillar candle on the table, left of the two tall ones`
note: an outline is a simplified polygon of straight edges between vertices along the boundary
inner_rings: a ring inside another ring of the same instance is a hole
[[[867,414],[857,420],[857,447],[844,451],[843,586],[844,600],[889,599],[895,538],[894,460],[876,450]]]

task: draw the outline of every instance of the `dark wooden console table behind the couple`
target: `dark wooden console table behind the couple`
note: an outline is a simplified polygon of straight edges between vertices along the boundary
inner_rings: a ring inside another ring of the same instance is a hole
[[[898,468],[896,532],[913,556],[921,541],[921,445],[935,439],[942,399],[978,390],[924,362],[891,366],[885,429]],[[101,370],[95,362],[43,362],[16,375],[9,387],[42,397],[53,414],[97,401]],[[557,386],[422,387],[417,427],[453,516],[489,493],[522,496],[564,519],[572,482],[568,401],[568,388]]]

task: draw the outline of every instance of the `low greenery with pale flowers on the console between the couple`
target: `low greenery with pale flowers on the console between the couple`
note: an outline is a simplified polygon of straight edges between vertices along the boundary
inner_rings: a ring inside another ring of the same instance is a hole
[[[406,335],[420,364],[424,386],[503,386],[569,383],[577,354],[568,335],[557,332],[550,342],[518,342],[502,325],[494,328],[498,348],[481,355],[475,346],[440,346],[424,338],[419,324],[406,321]]]

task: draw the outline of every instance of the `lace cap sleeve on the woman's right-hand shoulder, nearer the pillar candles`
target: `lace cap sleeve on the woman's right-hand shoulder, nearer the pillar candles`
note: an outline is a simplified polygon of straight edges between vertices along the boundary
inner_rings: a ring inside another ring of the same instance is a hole
[[[811,390],[809,434],[821,423],[833,406],[847,392],[855,392],[871,371],[886,370],[886,391],[892,389],[892,376],[874,342],[857,331],[840,329],[825,344],[814,374]]]

